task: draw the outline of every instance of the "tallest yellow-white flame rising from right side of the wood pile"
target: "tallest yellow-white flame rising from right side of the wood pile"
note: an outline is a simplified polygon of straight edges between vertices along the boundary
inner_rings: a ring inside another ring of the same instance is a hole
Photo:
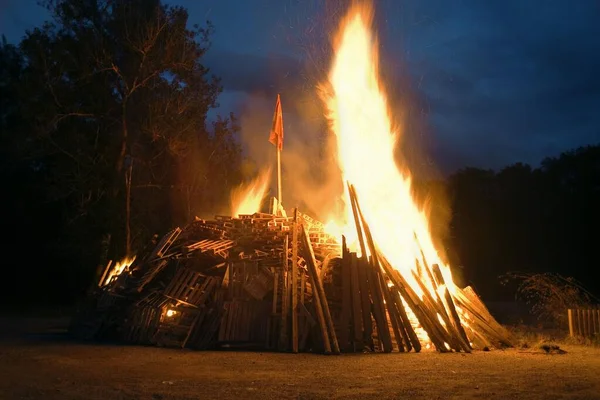
[[[410,171],[398,168],[394,159],[399,132],[392,126],[378,77],[377,39],[370,30],[372,20],[370,5],[355,5],[350,9],[335,37],[328,82],[321,86],[336,137],[342,178],[354,185],[381,252],[412,289],[423,296],[415,273],[425,288],[436,295],[428,269],[438,264],[452,293],[455,286],[450,269],[433,244],[426,212],[413,198]],[[349,247],[357,251],[352,240],[356,228],[347,191],[343,200],[347,205],[346,215],[327,226],[331,234],[346,235]]]

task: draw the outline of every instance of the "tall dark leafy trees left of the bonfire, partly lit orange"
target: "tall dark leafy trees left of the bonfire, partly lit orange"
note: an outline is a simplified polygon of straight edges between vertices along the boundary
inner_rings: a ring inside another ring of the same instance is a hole
[[[105,260],[228,204],[241,150],[233,116],[206,120],[210,24],[159,0],[45,5],[51,21],[0,45],[4,248],[20,259],[2,293],[66,301]]]

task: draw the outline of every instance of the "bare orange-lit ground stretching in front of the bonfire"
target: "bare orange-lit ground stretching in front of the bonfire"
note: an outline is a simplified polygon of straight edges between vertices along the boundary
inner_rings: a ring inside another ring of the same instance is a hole
[[[0,318],[0,399],[600,399],[600,348],[324,356],[78,343]]]

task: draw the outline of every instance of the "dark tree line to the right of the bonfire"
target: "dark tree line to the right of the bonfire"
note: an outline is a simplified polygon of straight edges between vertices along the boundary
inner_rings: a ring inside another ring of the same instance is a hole
[[[600,292],[593,279],[600,226],[600,145],[494,172],[465,168],[446,183],[451,199],[447,249],[467,283],[508,299],[499,276],[551,272]]]

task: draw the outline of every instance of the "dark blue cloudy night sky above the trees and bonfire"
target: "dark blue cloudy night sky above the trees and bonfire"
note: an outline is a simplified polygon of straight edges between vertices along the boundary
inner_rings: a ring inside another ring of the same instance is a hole
[[[272,93],[313,92],[316,66],[328,64],[326,31],[335,25],[335,7],[325,12],[323,0],[168,3],[188,8],[192,23],[215,26],[206,63],[223,78],[219,112],[243,117],[262,93],[268,123]],[[423,136],[426,153],[443,170],[537,165],[600,142],[597,0],[375,4],[390,96],[410,92],[414,115],[424,121],[405,134]],[[0,0],[0,32],[10,42],[46,17],[36,0]],[[286,129],[293,135],[293,126]]]

